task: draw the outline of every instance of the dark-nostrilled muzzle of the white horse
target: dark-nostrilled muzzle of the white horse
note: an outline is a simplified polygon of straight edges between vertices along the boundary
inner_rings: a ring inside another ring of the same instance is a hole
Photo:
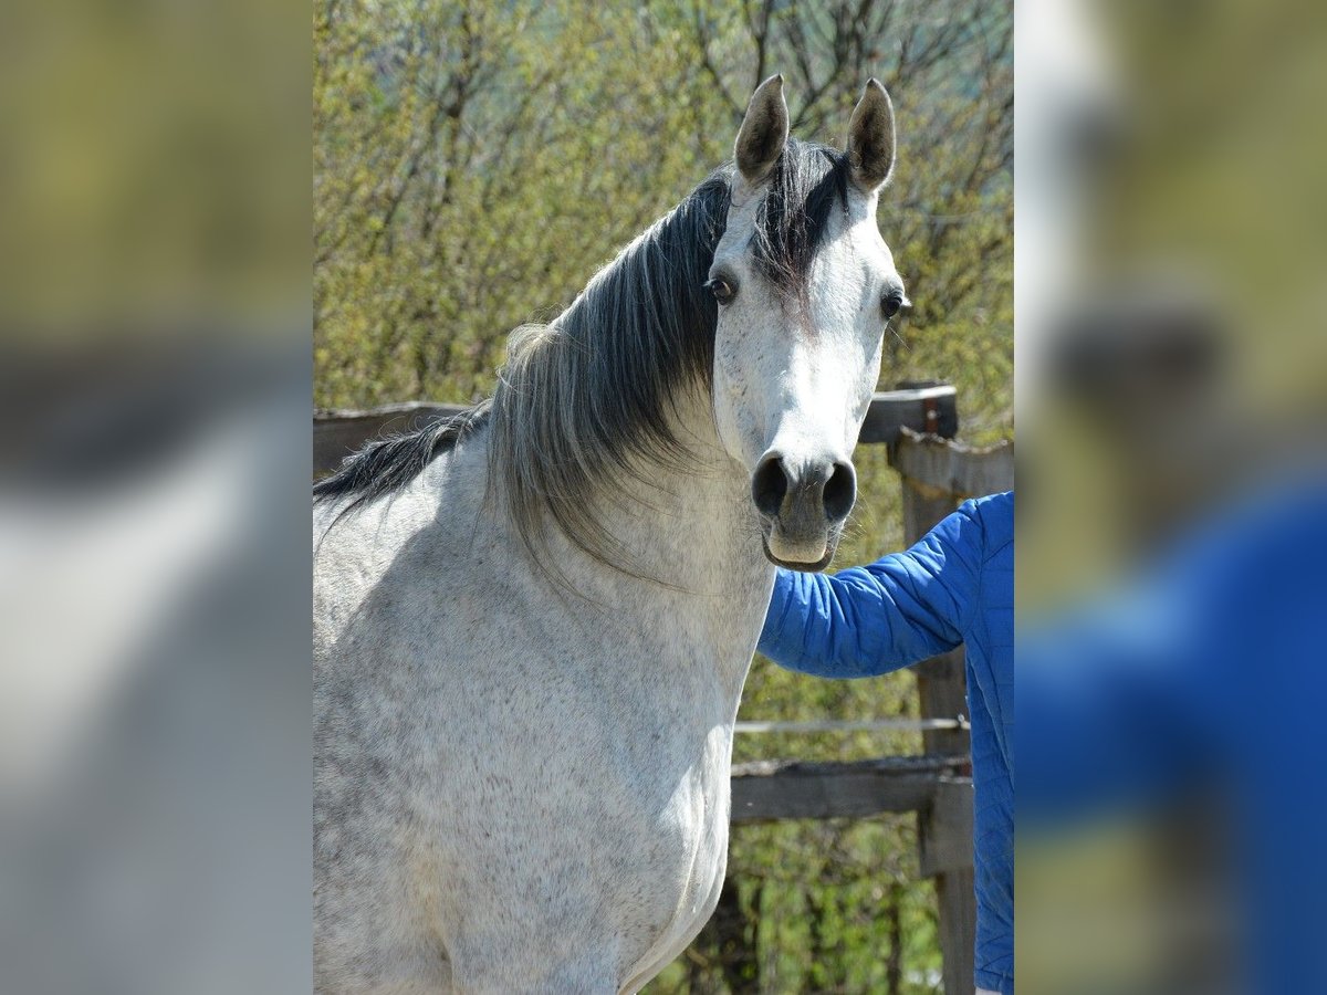
[[[764,555],[779,566],[823,570],[857,499],[857,474],[845,459],[792,460],[767,454],[751,475]]]

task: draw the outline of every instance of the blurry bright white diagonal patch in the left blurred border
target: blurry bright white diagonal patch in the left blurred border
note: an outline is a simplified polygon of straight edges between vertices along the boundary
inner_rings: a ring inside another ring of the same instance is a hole
[[[253,486],[230,418],[150,476],[80,495],[0,494],[0,797],[57,771],[151,634],[224,557]]]

